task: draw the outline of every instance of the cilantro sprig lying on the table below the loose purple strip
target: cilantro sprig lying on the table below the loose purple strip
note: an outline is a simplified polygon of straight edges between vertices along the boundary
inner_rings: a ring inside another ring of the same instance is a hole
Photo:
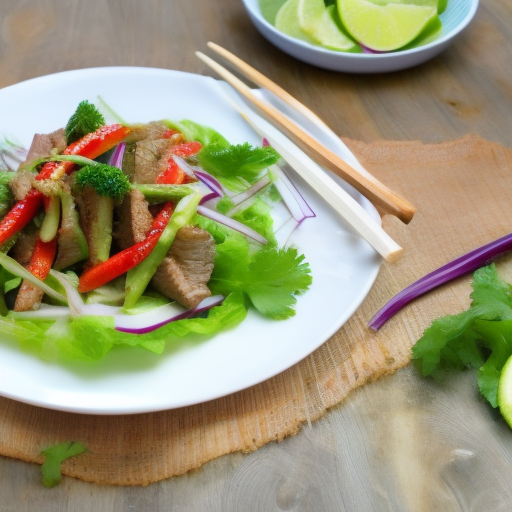
[[[512,286],[494,264],[474,273],[470,308],[435,320],[412,351],[425,376],[478,368],[478,388],[497,407],[500,373],[512,355]]]

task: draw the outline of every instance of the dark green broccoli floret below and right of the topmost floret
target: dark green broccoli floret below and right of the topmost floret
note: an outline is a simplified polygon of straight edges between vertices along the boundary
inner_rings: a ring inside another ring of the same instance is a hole
[[[86,165],[75,173],[75,183],[78,188],[92,187],[100,196],[112,199],[122,199],[130,190],[130,180],[118,169],[111,165]]]

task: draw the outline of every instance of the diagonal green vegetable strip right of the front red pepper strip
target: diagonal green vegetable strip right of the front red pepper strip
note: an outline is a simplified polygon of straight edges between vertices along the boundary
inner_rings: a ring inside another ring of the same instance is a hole
[[[146,286],[171,247],[177,231],[190,223],[200,200],[201,194],[199,192],[184,197],[176,206],[169,223],[151,254],[128,271],[126,276],[126,299],[124,301],[125,309],[134,307],[139,297],[144,293]]]

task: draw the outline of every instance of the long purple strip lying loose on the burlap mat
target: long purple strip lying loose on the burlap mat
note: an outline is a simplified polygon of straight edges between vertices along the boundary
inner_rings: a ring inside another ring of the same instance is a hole
[[[457,277],[478,270],[489,264],[493,258],[510,250],[512,250],[512,233],[439,267],[395,295],[375,314],[368,326],[374,330],[380,329],[392,316],[417,297]]]

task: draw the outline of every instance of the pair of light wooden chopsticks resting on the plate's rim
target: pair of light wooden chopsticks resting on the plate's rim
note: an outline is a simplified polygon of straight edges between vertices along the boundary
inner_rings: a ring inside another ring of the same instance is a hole
[[[282,101],[299,111],[316,125],[326,127],[325,123],[323,123],[323,121],[321,121],[321,119],[319,119],[318,116],[311,112],[307,107],[302,105],[281,87],[249,66],[247,63],[214,43],[208,43],[208,46],[235,66],[245,77],[249,78],[260,87],[264,87],[274,93]],[[387,213],[395,215],[402,222],[408,223],[412,219],[415,213],[415,208],[407,200],[395,194],[370,174],[362,174],[354,169],[340,156],[320,144],[315,138],[302,130],[296,123],[283,115],[279,110],[267,102],[257,98],[252,93],[250,87],[213,59],[207,57],[201,52],[196,52],[196,55],[216,71],[236,91],[242,94],[242,96],[252,104],[256,105],[259,112],[261,112],[262,117],[264,117],[268,123],[279,129],[289,139],[289,141],[297,147],[298,151],[305,153],[304,156],[307,155],[307,157],[309,157],[306,161],[310,162],[312,169],[315,167],[315,164],[318,164],[340,176],[361,194],[367,197],[375,206],[380,207]],[[241,109],[239,108],[239,110]],[[264,127],[262,127],[261,123],[258,122],[258,119],[260,118],[251,115],[249,112],[241,111],[241,113],[253,129],[259,133],[259,135],[267,137],[267,139],[269,138],[268,134],[264,131]],[[313,188],[315,188],[316,191],[331,204],[331,206],[343,215],[352,227],[355,228],[356,231],[358,231],[361,236],[363,236],[377,250],[377,252],[379,252],[388,261],[396,260],[399,257],[402,252],[401,247],[391,240],[389,235],[387,235],[387,233],[385,233],[382,228],[373,221],[373,219],[369,218],[368,214],[357,202],[353,200],[351,201],[348,194],[339,192],[338,189],[342,191],[339,185],[337,185],[325,173],[321,173],[325,175],[325,179],[321,178],[320,182],[318,179],[308,179],[310,176],[308,176],[308,172],[305,170],[304,161],[297,159],[297,151],[294,151],[293,147],[290,147],[289,144],[285,144],[285,147],[283,147],[283,144],[278,140],[270,140],[269,142],[288,162],[288,164],[294,168],[294,170],[299,172],[299,174],[310,185],[312,185]],[[294,165],[290,160],[294,160],[296,165]],[[300,167],[300,171],[297,168],[297,165]],[[335,190],[333,191],[333,189]],[[339,201],[347,204],[340,205],[338,204]]]

